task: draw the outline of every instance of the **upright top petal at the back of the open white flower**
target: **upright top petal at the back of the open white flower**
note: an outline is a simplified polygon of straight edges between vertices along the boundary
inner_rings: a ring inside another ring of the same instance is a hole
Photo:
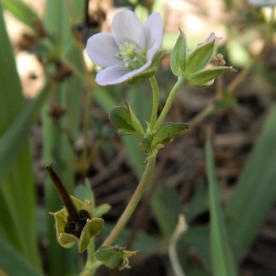
[[[139,17],[130,10],[117,12],[112,21],[111,29],[118,45],[124,41],[135,42],[142,48],[146,45],[144,25]]]

